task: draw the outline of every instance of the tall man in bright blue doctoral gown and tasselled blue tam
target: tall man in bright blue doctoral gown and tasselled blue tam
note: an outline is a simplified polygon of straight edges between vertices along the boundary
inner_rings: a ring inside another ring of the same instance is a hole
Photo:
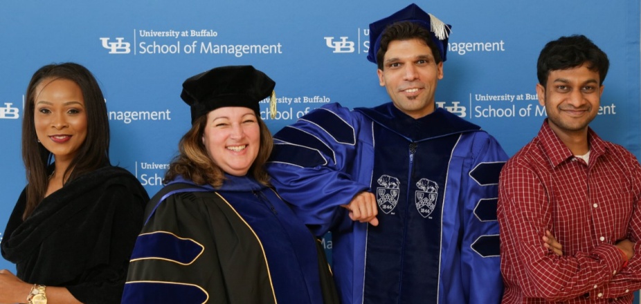
[[[499,303],[494,137],[442,108],[450,26],[415,4],[370,24],[391,102],[328,104],[275,135],[268,171],[294,211],[332,231],[343,303]]]

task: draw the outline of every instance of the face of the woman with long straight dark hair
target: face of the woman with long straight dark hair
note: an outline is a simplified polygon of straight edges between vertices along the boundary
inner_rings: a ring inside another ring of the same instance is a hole
[[[48,78],[35,88],[34,125],[38,140],[57,163],[71,162],[87,138],[87,111],[80,86]]]

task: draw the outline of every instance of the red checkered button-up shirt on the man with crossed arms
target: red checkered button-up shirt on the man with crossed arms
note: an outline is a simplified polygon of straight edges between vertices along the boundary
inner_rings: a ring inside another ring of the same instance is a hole
[[[641,166],[591,129],[590,163],[543,122],[500,175],[503,303],[632,303],[641,288]],[[545,230],[563,256],[543,247]],[[629,265],[613,245],[637,242]]]

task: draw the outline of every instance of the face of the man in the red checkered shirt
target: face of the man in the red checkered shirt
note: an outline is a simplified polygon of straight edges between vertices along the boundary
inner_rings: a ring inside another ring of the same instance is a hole
[[[536,85],[539,104],[545,106],[548,124],[554,133],[584,136],[596,117],[604,86],[599,72],[586,64],[567,70],[552,70],[545,87]]]

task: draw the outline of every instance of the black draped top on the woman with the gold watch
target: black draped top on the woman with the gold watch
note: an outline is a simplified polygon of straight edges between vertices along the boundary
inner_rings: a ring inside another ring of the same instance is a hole
[[[103,167],[51,193],[23,221],[25,193],[1,243],[17,276],[66,287],[82,303],[120,303],[149,200],[140,182],[125,169]]]

